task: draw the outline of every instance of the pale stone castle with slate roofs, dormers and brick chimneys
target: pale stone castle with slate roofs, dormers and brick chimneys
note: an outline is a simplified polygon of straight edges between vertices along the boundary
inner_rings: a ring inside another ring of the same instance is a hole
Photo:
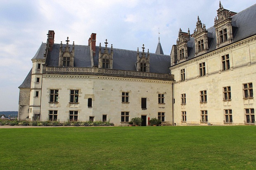
[[[199,16],[195,29],[178,33],[171,55],[100,43],[54,43],[49,30],[19,86],[19,119],[110,121],[133,117],[166,125],[254,125],[256,5],[239,13],[221,3],[214,25]]]

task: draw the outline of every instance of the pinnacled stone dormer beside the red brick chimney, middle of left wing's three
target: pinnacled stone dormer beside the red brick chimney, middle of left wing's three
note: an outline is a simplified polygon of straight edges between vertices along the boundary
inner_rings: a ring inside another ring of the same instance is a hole
[[[102,69],[113,69],[113,46],[111,44],[111,51],[109,54],[109,51],[107,49],[107,39],[105,42],[105,49],[104,52],[101,52],[101,44],[100,44],[100,51],[99,51],[99,68]]]

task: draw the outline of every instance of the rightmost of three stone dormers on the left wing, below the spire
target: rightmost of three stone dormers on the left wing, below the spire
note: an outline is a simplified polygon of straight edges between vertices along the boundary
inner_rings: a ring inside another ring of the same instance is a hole
[[[144,49],[145,47],[143,44],[142,53],[140,57],[139,48],[137,48],[137,62],[136,62],[137,71],[149,72],[149,49],[147,49],[147,57],[144,52]]]

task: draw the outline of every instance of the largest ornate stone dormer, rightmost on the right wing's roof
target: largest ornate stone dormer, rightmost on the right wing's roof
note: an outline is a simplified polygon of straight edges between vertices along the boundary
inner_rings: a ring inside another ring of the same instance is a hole
[[[225,46],[232,42],[233,33],[231,16],[235,14],[235,12],[224,9],[220,2],[219,9],[217,10],[217,16],[214,19],[214,27],[216,31],[216,48]]]

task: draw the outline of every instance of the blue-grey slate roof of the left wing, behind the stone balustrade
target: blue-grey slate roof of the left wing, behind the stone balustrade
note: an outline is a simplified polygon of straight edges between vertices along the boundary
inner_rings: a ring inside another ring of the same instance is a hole
[[[45,46],[45,44],[42,44]],[[62,45],[62,50],[64,51],[66,44]],[[58,67],[59,66],[59,48],[60,44],[54,44],[52,51],[47,57],[47,66]],[[40,51],[41,47],[38,51]],[[69,51],[72,50],[72,45],[69,45]],[[104,47],[102,47],[102,53],[104,52]],[[108,48],[110,53],[110,48]],[[141,53],[141,52],[140,52]],[[99,58],[99,46],[96,46],[96,53],[94,57],[94,65],[98,66]],[[147,55],[147,54],[146,54]],[[141,56],[141,54],[140,54]],[[169,55],[160,55],[155,53],[149,53],[150,64],[149,70],[152,73],[163,73],[168,74],[170,70],[171,58]],[[135,63],[137,62],[137,51],[123,50],[113,48],[113,69],[117,70],[127,70],[136,71]],[[91,67],[90,60],[90,46],[75,45],[75,57],[74,57],[74,67]]]

